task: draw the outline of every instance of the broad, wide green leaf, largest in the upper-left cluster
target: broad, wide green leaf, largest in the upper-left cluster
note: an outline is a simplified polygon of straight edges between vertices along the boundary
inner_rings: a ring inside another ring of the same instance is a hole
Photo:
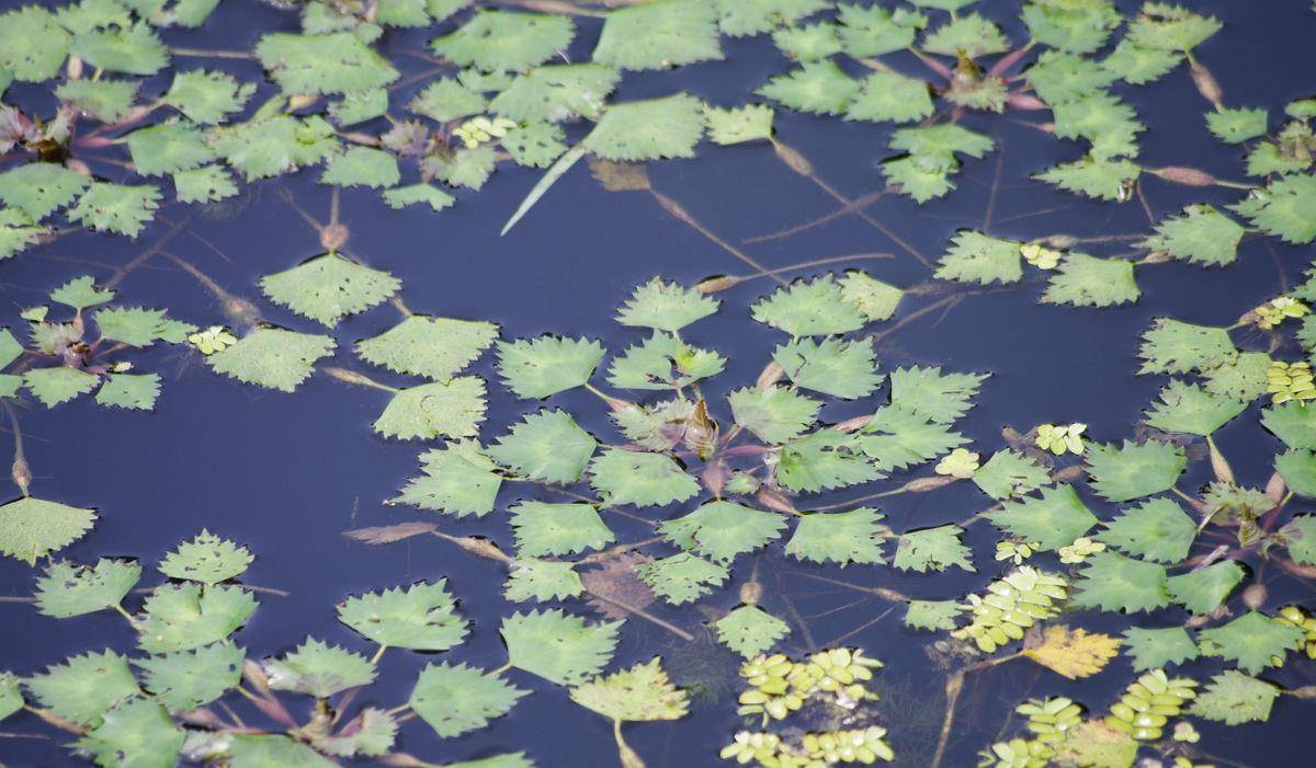
[[[397,70],[350,32],[271,33],[255,55],[288,95],[351,93],[397,79]]]

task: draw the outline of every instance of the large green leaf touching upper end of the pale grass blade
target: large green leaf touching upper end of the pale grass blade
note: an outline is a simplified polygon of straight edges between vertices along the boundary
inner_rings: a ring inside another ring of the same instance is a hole
[[[675,93],[608,107],[582,146],[607,160],[692,158],[703,134],[699,99]]]

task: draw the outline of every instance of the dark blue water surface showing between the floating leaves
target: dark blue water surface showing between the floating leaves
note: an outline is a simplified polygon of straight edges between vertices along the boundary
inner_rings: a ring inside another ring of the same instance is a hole
[[[16,7],[5,0],[0,7]],[[1011,18],[1015,3],[980,3],[994,17]],[[1133,11],[1133,4],[1126,11]],[[1311,41],[1316,39],[1316,14],[1305,0],[1265,4],[1195,3],[1217,13],[1225,29],[1198,51],[1200,60],[1220,80],[1230,105],[1263,105],[1277,114],[1291,99],[1309,95]],[[583,20],[578,34],[580,58],[587,55],[597,22]],[[1013,39],[1026,33],[1015,21],[1005,24]],[[211,49],[250,49],[270,29],[296,29],[296,16],[242,0],[226,0],[205,29],[170,33],[179,45]],[[416,50],[433,32],[388,33],[386,54]],[[407,67],[412,64],[400,58]],[[894,64],[915,72],[913,59],[891,57]],[[258,76],[251,62],[207,60],[246,78]],[[716,104],[738,104],[759,87],[769,74],[787,63],[767,38],[726,41],[726,60],[697,64],[675,72],[628,76],[619,100],[688,89]],[[268,88],[268,87],[267,87]],[[393,95],[403,104],[412,85]],[[1241,179],[1241,150],[1223,149],[1205,132],[1207,104],[1195,92],[1188,74],[1179,68],[1141,88],[1120,88],[1142,121],[1150,126],[1141,137],[1145,166],[1192,166],[1225,179]],[[14,100],[41,104],[37,89],[14,87]],[[254,103],[259,103],[257,96]],[[1094,203],[1059,193],[1029,179],[1057,162],[1079,156],[1082,149],[1045,135],[1026,124],[1040,124],[1048,113],[970,114],[965,124],[996,139],[998,150],[983,160],[967,160],[957,178],[958,189],[928,205],[888,195],[867,208],[886,228],[898,233],[928,258],[941,254],[959,228],[986,229],[1001,237],[1034,238],[1066,233],[1079,237],[1145,233],[1146,213],[1137,201]],[[366,130],[379,126],[368,125]],[[878,162],[887,154],[888,126],[846,124],[840,120],[778,113],[778,137],[797,149],[816,167],[817,175],[849,197],[883,187]],[[1000,160],[1000,162],[999,162]],[[113,166],[92,167],[121,179]],[[703,145],[694,160],[649,166],[655,189],[678,200],[692,216],[726,242],[770,267],[845,254],[888,254],[841,267],[862,266],[874,276],[901,287],[924,284],[929,270],[908,252],[855,216],[833,221],[790,237],[753,241],[783,228],[825,216],[837,201],[780,163],[763,142],[736,147]],[[225,291],[253,301],[265,321],[316,331],[305,318],[265,301],[257,287],[262,275],[288,268],[321,251],[317,235],[286,203],[287,192],[312,216],[325,218],[329,188],[316,183],[317,170],[243,188],[242,196],[211,208],[167,205],[162,217],[183,224],[166,246],[171,254],[209,275]],[[342,193],[342,218],[350,228],[347,251],[372,267],[401,279],[407,305],[416,312],[449,317],[491,320],[503,326],[504,338],[559,333],[600,338],[613,352],[637,343],[642,335],[620,329],[615,308],[632,288],[654,275],[691,284],[709,275],[745,274],[744,264],[690,226],[663,212],[646,192],[608,192],[582,163],[563,178],[533,212],[507,237],[499,229],[534,184],[537,171],[504,166],[478,195],[463,195],[459,204],[441,214],[408,209],[393,212],[370,191]],[[995,192],[991,189],[995,187]],[[1144,179],[1148,203],[1157,218],[1178,212],[1188,203],[1232,203],[1237,191],[1175,187],[1154,178]],[[988,203],[994,199],[994,203]],[[988,208],[991,214],[988,218]],[[41,302],[51,287],[92,274],[108,279],[113,270],[151,246],[167,231],[157,222],[136,242],[89,233],[70,234],[33,249],[0,266],[0,325],[18,326],[20,308]],[[1094,245],[1091,252],[1120,255],[1126,245]],[[1311,249],[1288,247],[1274,238],[1245,241],[1236,264],[1202,270],[1170,263],[1138,268],[1142,299],[1116,309],[1074,309],[1040,305],[1037,283],[1008,291],[969,295],[945,310],[930,312],[882,338],[883,370],[901,364],[940,364],[954,371],[991,372],[976,408],[962,422],[962,431],[983,450],[1001,444],[1000,430],[1012,426],[1026,431],[1041,422],[1082,421],[1094,438],[1113,441],[1132,437],[1141,410],[1163,385],[1163,379],[1138,377],[1134,352],[1138,334],[1155,317],[1170,316],[1190,322],[1229,325],[1258,302],[1291,285],[1311,256]],[[80,263],[80,262],[88,263]],[[816,274],[817,270],[805,274]],[[795,275],[788,275],[792,277]],[[770,359],[779,333],[749,321],[747,306],[775,285],[766,279],[749,281],[722,295],[715,317],[688,329],[687,341],[721,351],[729,358],[726,372],[705,387],[711,402],[732,388],[753,381]],[[120,300],[130,305],[167,306],[182,320],[205,326],[226,322],[216,297],[175,263],[155,258],[132,271],[117,285]],[[909,316],[938,295],[912,296],[901,305]],[[350,352],[350,343],[396,324],[390,305],[345,320],[333,333],[340,342],[333,360],[321,364],[363,370]],[[879,333],[890,327],[878,326]],[[497,375],[492,355],[472,372],[491,383]],[[33,492],[100,513],[95,531],[64,555],[76,562],[97,556],[137,558],[155,564],[180,539],[201,527],[247,544],[257,555],[242,577],[251,585],[286,590],[280,597],[259,594],[261,609],[236,639],[249,658],[291,650],[308,634],[349,648],[371,648],[334,617],[334,605],[362,590],[446,577],[461,598],[462,613],[472,619],[472,631],[459,648],[442,655],[487,668],[500,667],[505,652],[497,634],[501,617],[516,606],[501,597],[504,572],[490,560],[474,558],[434,537],[418,537],[390,546],[366,546],[349,540],[343,531],[412,519],[437,519],[411,508],[386,506],[415,472],[416,455],[424,446],[384,441],[370,423],[387,402],[386,392],[350,387],[316,375],[295,395],[261,391],[221,377],[200,364],[196,355],[161,348],[134,358],[147,371],[164,376],[163,393],[153,413],[125,413],[99,408],[88,397],[46,410],[26,408],[20,421],[26,434],[28,458],[36,472]],[[379,371],[380,381],[407,383]],[[601,379],[601,377],[600,377]],[[491,385],[490,416],[483,439],[503,434],[540,404],[512,398]],[[880,397],[880,395],[879,395]],[[824,420],[840,421],[871,412],[876,400],[840,404],[824,412]],[[604,441],[619,442],[600,402],[583,391],[555,396],[551,405],[570,409],[578,421]],[[1255,408],[1217,433],[1234,471],[1253,485],[1270,475],[1278,442],[1257,423]],[[726,414],[725,409],[722,416]],[[1209,480],[1204,462],[1190,464],[1182,487]],[[842,501],[863,491],[850,491],[820,504]],[[7,491],[5,493],[11,493]],[[534,496],[517,487],[500,497],[500,510],[517,494]],[[547,498],[547,496],[545,496]],[[1087,498],[1099,517],[1108,519],[1113,508]],[[905,494],[880,504],[886,522],[895,530],[962,521],[986,506],[984,497],[959,484],[932,494]],[[669,518],[688,508],[645,510]],[[505,516],[483,522],[441,519],[451,534],[480,534],[512,550]],[[620,540],[640,538],[645,526],[609,518]],[[944,672],[925,655],[933,635],[913,633],[901,625],[903,609],[883,614],[890,604],[865,593],[821,583],[808,576],[828,576],[855,584],[883,585],[920,598],[958,598],[980,589],[998,573],[991,560],[994,533],[974,526],[967,534],[974,546],[979,573],[965,577],[907,575],[890,567],[850,567],[844,571],[805,565],[780,555],[774,546],[758,558],[765,585],[762,605],[792,623],[783,648],[795,652],[844,642],[865,647],[887,663],[879,686],[887,696],[883,721],[901,765],[926,764],[936,740],[944,706]],[[738,602],[737,588],[750,576],[751,559],[742,559],[734,579],[700,605],[715,612]],[[154,584],[147,568],[145,585]],[[0,562],[0,593],[30,596],[36,572],[11,559]],[[1292,584],[1266,572],[1275,598],[1312,602],[1309,585]],[[139,606],[142,596],[130,596],[128,608]],[[859,601],[855,604],[855,601]],[[850,605],[854,604],[854,605]],[[844,610],[841,606],[850,605]],[[1278,605],[1278,602],[1277,602]],[[588,610],[571,606],[572,610]],[[628,726],[628,739],[651,767],[713,765],[716,751],[741,727],[734,714],[733,685],[737,659],[719,648],[703,629],[707,615],[676,610],[658,602],[650,610],[687,627],[699,636],[692,647],[642,621],[629,621],[621,631],[615,664],[629,665],[655,654],[669,658],[674,676],[686,684],[707,683],[713,692],[699,701],[691,717],[672,723]],[[1169,626],[1184,615],[1165,612],[1157,626]],[[1090,629],[1116,631],[1128,619],[1090,614]],[[854,630],[863,627],[857,634]],[[0,602],[0,667],[20,675],[43,669],[67,655],[111,647],[134,651],[134,634],[121,617],[103,612],[72,619],[39,615],[25,602]],[[379,681],[358,697],[357,705],[391,708],[405,701],[416,672],[433,655],[390,651],[380,663]],[[1187,668],[1205,680],[1217,665],[1200,661]],[[541,765],[609,765],[616,761],[609,725],[603,718],[569,705],[566,689],[528,673],[511,671],[515,683],[534,692],[509,715],[459,739],[438,739],[421,721],[401,729],[399,747],[426,760],[443,763],[508,750],[525,750]],[[1104,710],[1133,673],[1124,658],[1094,680],[1069,683],[1041,667],[1019,661],[971,677],[957,714],[955,735],[946,765],[967,765],[974,754],[995,740],[1009,710],[1029,696],[1066,694]],[[1312,683],[1312,667],[1294,661],[1273,677],[1288,688]],[[236,700],[236,701],[233,701]],[[237,697],[228,701],[251,723],[261,715]],[[291,701],[291,700],[290,700]],[[300,706],[297,702],[295,706]],[[301,715],[303,713],[297,711]],[[1294,697],[1277,702],[1271,722],[1227,729],[1199,723],[1200,747],[1220,761],[1249,765],[1299,765],[1309,763],[1304,726],[1316,718],[1316,708]],[[3,730],[54,734],[49,739],[0,739],[0,764],[80,764],[63,748],[62,734],[36,717],[20,714]]]

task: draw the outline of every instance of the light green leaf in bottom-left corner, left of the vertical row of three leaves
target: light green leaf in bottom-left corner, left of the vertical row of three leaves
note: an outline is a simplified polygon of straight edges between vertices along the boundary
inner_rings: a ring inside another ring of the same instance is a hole
[[[28,690],[42,706],[75,723],[92,723],[120,701],[141,693],[128,659],[108,650],[70,656],[33,675]]]

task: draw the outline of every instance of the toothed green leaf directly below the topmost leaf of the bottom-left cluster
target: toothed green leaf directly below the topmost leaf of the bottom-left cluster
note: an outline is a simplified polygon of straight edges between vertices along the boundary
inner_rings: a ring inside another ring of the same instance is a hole
[[[224,640],[255,612],[251,593],[238,587],[178,584],[157,587],[146,598],[137,644],[147,654],[170,654]]]

